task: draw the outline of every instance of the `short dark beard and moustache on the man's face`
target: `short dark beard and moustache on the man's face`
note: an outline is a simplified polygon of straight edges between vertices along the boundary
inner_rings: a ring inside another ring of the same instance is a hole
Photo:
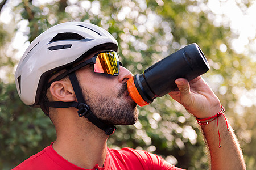
[[[103,96],[82,89],[85,103],[100,121],[108,125],[133,125],[138,120],[137,104],[128,101],[127,84],[123,83],[115,96]]]

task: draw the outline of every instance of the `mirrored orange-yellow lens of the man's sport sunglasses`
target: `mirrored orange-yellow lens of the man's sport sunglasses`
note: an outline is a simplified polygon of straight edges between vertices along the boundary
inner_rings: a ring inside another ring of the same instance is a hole
[[[94,64],[94,72],[111,75],[119,74],[119,58],[116,52],[103,52],[98,54]]]

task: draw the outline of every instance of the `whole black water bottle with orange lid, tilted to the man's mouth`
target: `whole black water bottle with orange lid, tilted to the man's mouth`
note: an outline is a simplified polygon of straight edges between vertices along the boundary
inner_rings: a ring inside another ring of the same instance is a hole
[[[199,46],[189,44],[148,67],[144,73],[134,75],[127,81],[127,87],[131,99],[143,106],[175,90],[177,78],[190,81],[209,69],[207,58]]]

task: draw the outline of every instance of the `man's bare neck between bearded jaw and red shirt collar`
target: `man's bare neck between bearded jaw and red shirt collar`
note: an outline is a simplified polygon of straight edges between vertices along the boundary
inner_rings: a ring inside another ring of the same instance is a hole
[[[53,149],[68,162],[81,168],[93,169],[96,164],[103,167],[109,136],[84,117],[76,114],[74,120],[63,121],[65,124],[56,127],[57,139]]]

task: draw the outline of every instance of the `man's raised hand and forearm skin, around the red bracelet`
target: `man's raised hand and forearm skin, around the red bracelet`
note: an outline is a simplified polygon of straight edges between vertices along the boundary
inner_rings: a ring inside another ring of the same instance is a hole
[[[181,103],[187,111],[197,118],[211,117],[221,111],[220,101],[212,89],[198,77],[188,82],[186,79],[175,81],[179,91],[172,91],[169,95]],[[211,160],[212,169],[246,169],[243,155],[231,126],[227,130],[224,116],[218,118],[221,135],[221,148],[218,147],[217,121],[202,125]]]

